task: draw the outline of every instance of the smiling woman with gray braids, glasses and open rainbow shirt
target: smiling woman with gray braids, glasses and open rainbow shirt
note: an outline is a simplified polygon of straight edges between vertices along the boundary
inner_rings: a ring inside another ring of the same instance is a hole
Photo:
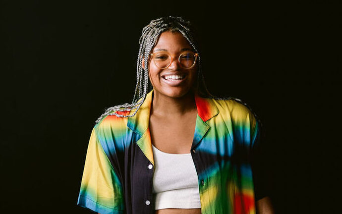
[[[100,214],[272,213],[253,185],[259,136],[249,108],[206,89],[189,23],[152,20],[133,103],[107,109],[93,128],[78,205]]]

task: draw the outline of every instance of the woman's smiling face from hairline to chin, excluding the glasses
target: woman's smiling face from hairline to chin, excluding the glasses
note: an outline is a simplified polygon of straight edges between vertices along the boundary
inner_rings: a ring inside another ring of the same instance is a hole
[[[149,59],[149,76],[155,94],[163,95],[171,98],[180,98],[187,95],[194,86],[197,75],[196,65],[190,69],[182,68],[178,62],[178,55],[184,51],[192,51],[192,47],[188,41],[179,32],[163,32],[157,40],[156,46],[152,53],[166,51],[174,60],[170,66],[162,69],[159,68],[153,60]],[[176,79],[170,78],[171,75]],[[177,78],[181,79],[177,79]]]

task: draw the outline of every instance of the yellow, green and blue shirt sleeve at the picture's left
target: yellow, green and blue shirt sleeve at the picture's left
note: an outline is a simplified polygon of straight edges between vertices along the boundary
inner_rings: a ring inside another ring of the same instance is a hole
[[[77,205],[100,214],[122,214],[122,185],[94,127],[90,136]]]

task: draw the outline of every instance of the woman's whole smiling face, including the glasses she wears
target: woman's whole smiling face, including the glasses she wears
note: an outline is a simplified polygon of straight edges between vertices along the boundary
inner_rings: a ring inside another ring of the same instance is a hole
[[[197,53],[191,49],[179,32],[167,31],[160,35],[149,60],[149,77],[156,99],[159,96],[181,98],[190,90],[193,96],[198,68],[194,66]]]

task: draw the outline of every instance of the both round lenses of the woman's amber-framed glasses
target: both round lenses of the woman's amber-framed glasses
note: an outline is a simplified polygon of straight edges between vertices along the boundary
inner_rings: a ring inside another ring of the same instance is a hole
[[[166,68],[171,62],[171,56],[167,53],[154,54],[154,61],[160,68]],[[179,64],[184,68],[190,68],[195,63],[195,54],[191,52],[185,52],[179,56]]]

